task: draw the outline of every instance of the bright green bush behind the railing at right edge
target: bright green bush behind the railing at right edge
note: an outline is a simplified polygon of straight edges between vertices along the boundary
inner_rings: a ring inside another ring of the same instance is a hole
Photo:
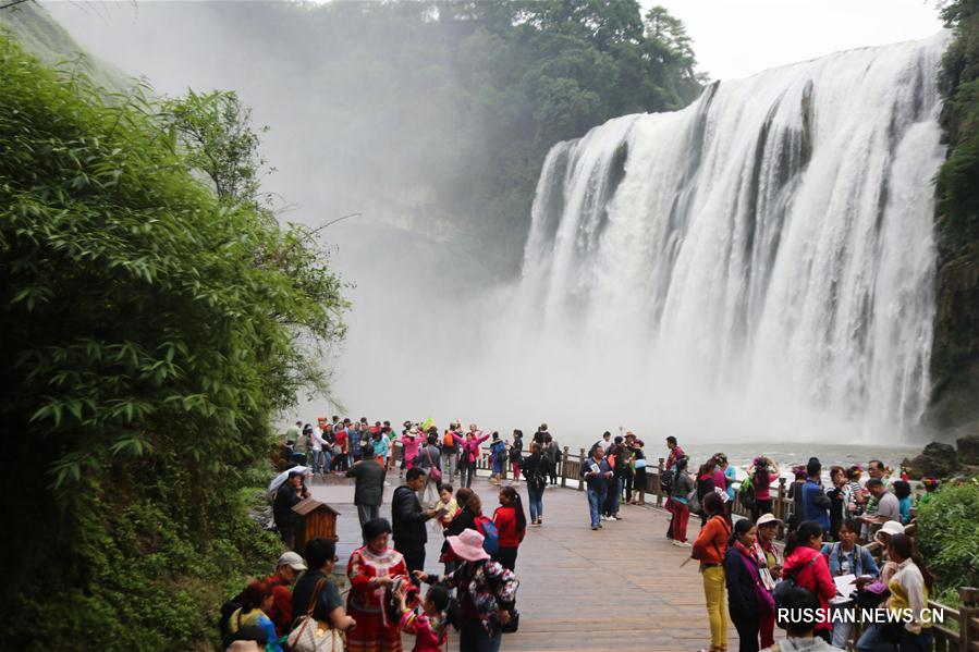
[[[918,545],[946,600],[979,582],[979,482],[941,488],[918,508]]]

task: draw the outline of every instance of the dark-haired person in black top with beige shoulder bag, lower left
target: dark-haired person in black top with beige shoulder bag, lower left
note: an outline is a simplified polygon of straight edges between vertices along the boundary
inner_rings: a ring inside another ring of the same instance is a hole
[[[336,544],[323,537],[307,541],[306,564],[309,570],[299,577],[292,592],[293,616],[298,618],[309,614],[314,619],[341,631],[356,626],[357,622],[346,614],[340,591],[330,579],[336,565]],[[303,624],[296,625],[290,635],[290,642],[301,627]]]

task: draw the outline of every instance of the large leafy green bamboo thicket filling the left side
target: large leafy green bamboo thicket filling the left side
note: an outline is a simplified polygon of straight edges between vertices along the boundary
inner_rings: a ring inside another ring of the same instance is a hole
[[[207,648],[279,551],[248,488],[271,419],[329,391],[341,284],[257,195],[233,94],[107,95],[0,36],[0,638]]]

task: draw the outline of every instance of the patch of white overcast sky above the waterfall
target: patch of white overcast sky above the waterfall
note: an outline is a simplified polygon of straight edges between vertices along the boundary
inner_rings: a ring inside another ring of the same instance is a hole
[[[937,0],[641,0],[682,19],[699,69],[713,79],[862,46],[929,37]]]

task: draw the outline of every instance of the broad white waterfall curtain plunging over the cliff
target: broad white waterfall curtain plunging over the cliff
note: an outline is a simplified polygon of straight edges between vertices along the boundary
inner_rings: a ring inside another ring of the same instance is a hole
[[[525,403],[701,439],[913,436],[946,42],[714,84],[556,145],[501,327]]]

